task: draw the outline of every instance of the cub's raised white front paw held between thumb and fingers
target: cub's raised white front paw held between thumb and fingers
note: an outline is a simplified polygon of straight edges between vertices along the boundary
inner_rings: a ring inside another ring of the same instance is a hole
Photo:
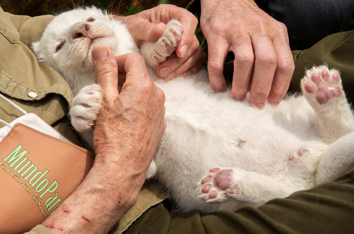
[[[154,43],[145,42],[141,48],[141,55],[152,67],[166,60],[175,50],[181,41],[183,27],[178,20],[171,20],[166,24],[167,28],[159,40]]]

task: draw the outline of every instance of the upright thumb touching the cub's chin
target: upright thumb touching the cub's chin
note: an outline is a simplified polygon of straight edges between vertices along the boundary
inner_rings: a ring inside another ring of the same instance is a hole
[[[92,48],[92,63],[95,69],[96,80],[101,85],[103,98],[108,102],[114,102],[118,92],[118,65],[113,52],[102,45]]]

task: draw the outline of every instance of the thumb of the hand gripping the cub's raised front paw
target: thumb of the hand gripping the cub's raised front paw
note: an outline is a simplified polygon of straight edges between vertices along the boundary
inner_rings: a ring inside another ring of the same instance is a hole
[[[130,33],[138,41],[155,42],[159,39],[166,29],[166,24],[160,22],[158,24],[151,23],[145,19],[135,19],[130,28]]]

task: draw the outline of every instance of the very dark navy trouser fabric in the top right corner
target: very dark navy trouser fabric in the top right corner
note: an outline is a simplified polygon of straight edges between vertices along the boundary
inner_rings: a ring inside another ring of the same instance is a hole
[[[268,0],[269,14],[286,25],[292,49],[354,29],[353,0]]]

